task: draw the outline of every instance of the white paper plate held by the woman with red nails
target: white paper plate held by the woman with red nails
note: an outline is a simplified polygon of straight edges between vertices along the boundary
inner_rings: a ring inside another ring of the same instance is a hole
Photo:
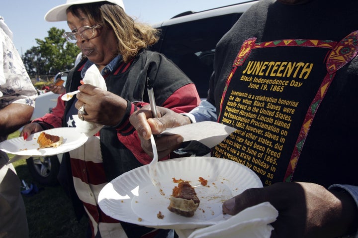
[[[63,137],[63,143],[56,147],[39,148],[37,138],[41,132]],[[76,131],[75,127],[59,127],[33,133],[26,140],[16,137],[0,143],[0,149],[6,153],[27,156],[50,156],[71,151],[83,145],[88,136]]]

